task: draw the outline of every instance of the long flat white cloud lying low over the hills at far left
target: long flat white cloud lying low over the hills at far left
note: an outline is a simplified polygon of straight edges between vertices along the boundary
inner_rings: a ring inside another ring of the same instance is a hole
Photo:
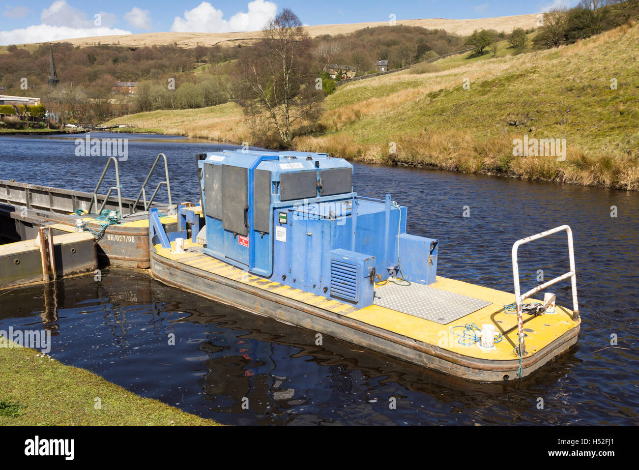
[[[24,44],[27,42],[47,42],[60,39],[86,38],[89,36],[130,35],[131,31],[111,27],[76,28],[38,24],[23,29],[0,31],[0,44]]]

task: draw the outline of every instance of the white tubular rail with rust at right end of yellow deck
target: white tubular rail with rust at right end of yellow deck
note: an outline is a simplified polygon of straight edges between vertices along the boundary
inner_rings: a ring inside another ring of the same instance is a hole
[[[566,230],[566,235],[568,239],[568,256],[570,260],[570,270],[561,276],[558,276],[555,279],[551,279],[535,288],[530,289],[528,292],[521,294],[520,290],[520,278],[519,278],[519,265],[517,263],[517,250],[520,245],[523,245],[528,242],[532,242],[532,240],[541,239],[543,237],[548,237],[548,235],[552,235],[553,233],[557,233],[558,231]],[[577,303],[577,278],[576,278],[576,270],[574,268],[574,250],[573,250],[573,231],[567,225],[558,226],[555,228],[551,228],[550,230],[543,231],[541,233],[537,233],[537,235],[531,235],[530,237],[526,237],[525,239],[517,240],[512,245],[512,279],[514,281],[515,288],[515,303],[517,305],[517,327],[518,327],[518,335],[520,337],[520,352],[523,354],[525,352],[525,344],[524,344],[524,333],[523,333],[523,320],[521,318],[521,302],[525,299],[528,299],[531,295],[537,294],[537,292],[545,289],[548,286],[551,286],[559,281],[563,281],[564,279],[571,278],[572,290],[573,290],[573,319],[576,320],[579,318],[579,305]]]

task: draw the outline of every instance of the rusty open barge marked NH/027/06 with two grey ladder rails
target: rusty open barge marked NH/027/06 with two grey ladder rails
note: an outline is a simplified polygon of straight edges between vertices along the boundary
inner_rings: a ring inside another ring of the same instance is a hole
[[[164,158],[166,180],[158,184],[147,201],[145,187],[161,158]],[[111,164],[115,185],[107,194],[99,194]],[[169,204],[154,201],[160,185],[166,185]],[[93,193],[0,180],[0,238],[12,242],[35,239],[42,226],[50,226],[54,235],[89,231],[96,235],[100,265],[148,269],[150,207],[160,210],[165,229],[173,231],[176,218],[164,154],[160,153],[155,159],[135,200],[121,196],[118,161],[111,157]]]

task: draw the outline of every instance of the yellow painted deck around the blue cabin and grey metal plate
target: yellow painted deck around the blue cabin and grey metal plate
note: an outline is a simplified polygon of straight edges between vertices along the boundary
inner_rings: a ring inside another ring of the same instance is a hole
[[[159,244],[155,246],[155,249],[158,255],[169,260],[174,260],[206,272],[217,274],[218,276],[256,286],[275,294],[284,295],[290,299],[339,313],[369,325],[418,341],[424,341],[425,343],[436,345],[442,349],[463,354],[464,356],[489,360],[512,360],[518,357],[514,352],[514,347],[518,340],[516,329],[505,335],[500,343],[496,343],[494,349],[482,349],[479,345],[461,345],[458,342],[459,337],[450,333],[450,327],[467,323],[474,323],[480,329],[482,324],[491,323],[495,325],[496,332],[502,333],[514,327],[517,324],[517,315],[515,313],[504,312],[504,305],[514,302],[514,295],[508,292],[437,276],[436,282],[431,284],[431,287],[492,302],[491,305],[470,313],[465,317],[454,320],[447,325],[441,325],[424,318],[414,317],[407,313],[377,305],[358,309],[344,302],[327,299],[327,297],[304,292],[290,286],[282,285],[276,281],[253,276],[242,269],[215,260],[210,256],[203,255],[201,252],[189,253],[188,251],[189,249],[199,249],[201,247],[200,244],[190,241],[187,242],[187,240],[185,240],[187,253],[174,254],[171,253],[170,249],[163,248]],[[376,290],[383,290],[383,288],[384,286],[379,286],[376,287]],[[534,302],[534,299],[528,299],[525,303],[527,302]],[[562,334],[580,324],[579,319],[573,320],[571,310],[558,305],[555,310],[556,313],[547,313],[546,315],[534,317],[524,324],[525,329],[532,329],[532,331],[526,331],[526,356],[530,356],[541,350],[562,336]],[[530,318],[530,315],[524,314],[524,320],[527,320],[527,318]]]

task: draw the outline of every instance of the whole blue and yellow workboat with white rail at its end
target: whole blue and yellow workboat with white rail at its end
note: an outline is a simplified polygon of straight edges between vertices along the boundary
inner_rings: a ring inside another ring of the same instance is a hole
[[[406,233],[390,195],[362,198],[353,167],[325,153],[197,156],[201,205],[167,232],[150,209],[151,274],[203,297],[470,380],[521,379],[580,329],[569,226],[517,240],[514,296],[436,274],[439,241]],[[517,249],[566,231],[571,270],[521,294]],[[531,297],[571,279],[573,309]]]

